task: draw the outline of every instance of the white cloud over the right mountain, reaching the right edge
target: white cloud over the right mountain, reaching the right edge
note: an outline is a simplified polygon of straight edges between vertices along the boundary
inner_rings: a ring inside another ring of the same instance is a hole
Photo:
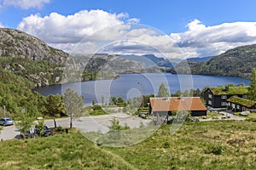
[[[256,22],[205,26],[194,20],[187,27],[188,31],[172,33],[171,37],[188,57],[217,55],[230,48],[256,43]]]

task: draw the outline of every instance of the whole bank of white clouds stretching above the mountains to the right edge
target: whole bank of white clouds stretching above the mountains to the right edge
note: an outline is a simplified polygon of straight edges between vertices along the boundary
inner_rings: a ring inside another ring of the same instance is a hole
[[[51,13],[24,18],[18,29],[26,31],[55,48],[68,53],[161,54],[186,59],[224,53],[227,49],[256,43],[255,22],[224,23],[205,26],[199,20],[188,30],[164,35],[137,23],[129,14],[103,10],[82,10],[76,14]],[[177,48],[178,46],[178,48]]]

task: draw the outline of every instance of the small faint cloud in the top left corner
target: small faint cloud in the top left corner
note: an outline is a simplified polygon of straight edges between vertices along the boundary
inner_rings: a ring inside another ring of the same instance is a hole
[[[18,8],[42,8],[45,3],[49,3],[50,0],[1,0],[2,7],[15,6]]]

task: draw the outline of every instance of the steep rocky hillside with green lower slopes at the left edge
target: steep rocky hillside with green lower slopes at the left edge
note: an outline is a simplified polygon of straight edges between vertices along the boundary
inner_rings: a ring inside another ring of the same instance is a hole
[[[0,69],[34,82],[35,87],[61,83],[69,54],[25,32],[0,28]]]

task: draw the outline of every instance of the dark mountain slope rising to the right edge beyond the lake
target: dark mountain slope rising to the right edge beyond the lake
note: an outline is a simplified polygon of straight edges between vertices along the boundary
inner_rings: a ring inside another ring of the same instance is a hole
[[[184,65],[186,63],[181,62],[176,66],[177,73],[189,73]],[[253,68],[256,68],[256,44],[230,49],[206,62],[189,61],[189,66],[192,74],[249,77]]]

